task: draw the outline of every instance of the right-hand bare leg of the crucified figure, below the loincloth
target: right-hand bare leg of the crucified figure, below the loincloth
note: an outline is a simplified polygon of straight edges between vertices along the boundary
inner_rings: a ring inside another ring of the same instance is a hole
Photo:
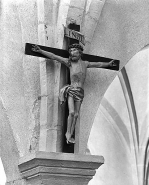
[[[81,103],[80,101],[75,101],[74,102],[74,118],[73,118],[73,122],[72,122],[72,126],[71,126],[71,137],[73,135],[74,129],[75,129],[75,125],[79,116],[79,112],[80,112],[80,107],[81,107]]]

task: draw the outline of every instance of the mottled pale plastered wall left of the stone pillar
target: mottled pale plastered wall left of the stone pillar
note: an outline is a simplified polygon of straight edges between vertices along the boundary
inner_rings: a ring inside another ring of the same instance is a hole
[[[0,6],[0,155],[9,182],[20,178],[19,157],[37,147],[39,62],[24,55],[25,42],[37,42],[37,6],[8,0]]]

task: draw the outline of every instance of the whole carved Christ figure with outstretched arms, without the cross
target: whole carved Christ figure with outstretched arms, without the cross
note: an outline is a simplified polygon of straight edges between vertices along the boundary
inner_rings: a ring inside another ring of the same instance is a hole
[[[69,115],[67,119],[66,141],[67,143],[75,143],[73,132],[79,115],[80,107],[84,98],[84,81],[86,78],[87,68],[104,68],[116,66],[114,60],[109,63],[88,62],[81,59],[83,47],[80,44],[72,44],[69,46],[69,58],[57,56],[51,52],[42,50],[39,46],[33,45],[34,52],[41,53],[49,59],[56,60],[65,64],[70,70],[70,85],[65,85],[59,94],[61,104],[68,101]]]

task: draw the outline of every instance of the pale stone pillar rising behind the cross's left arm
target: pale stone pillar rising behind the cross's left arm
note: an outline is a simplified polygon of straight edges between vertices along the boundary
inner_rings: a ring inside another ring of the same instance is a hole
[[[69,9],[67,1],[37,0],[38,44],[63,48],[64,28]],[[52,12],[47,9],[51,7]],[[61,64],[40,58],[40,136],[39,151],[62,152],[63,111],[59,106],[59,89],[63,84]]]

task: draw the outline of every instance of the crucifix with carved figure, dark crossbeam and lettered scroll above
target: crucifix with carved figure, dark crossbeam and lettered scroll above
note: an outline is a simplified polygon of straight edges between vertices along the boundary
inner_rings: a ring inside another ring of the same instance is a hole
[[[65,36],[84,44],[84,36],[65,28]],[[52,59],[64,64],[70,72],[70,84],[66,84],[59,93],[60,104],[68,102],[69,115],[65,134],[67,144],[74,144],[73,133],[84,98],[84,82],[88,68],[106,68],[119,70],[119,60],[88,55],[78,42],[69,44],[68,51],[41,45],[26,43],[25,54]]]

